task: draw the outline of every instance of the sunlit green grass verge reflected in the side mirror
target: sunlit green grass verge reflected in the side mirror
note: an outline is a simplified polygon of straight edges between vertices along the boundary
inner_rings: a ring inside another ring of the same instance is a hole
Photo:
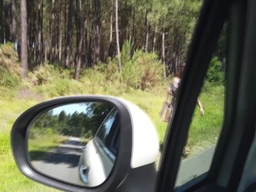
[[[37,160],[45,156],[50,150],[53,150],[66,142],[68,138],[61,135],[37,135],[35,139],[29,140],[29,154],[31,160]]]

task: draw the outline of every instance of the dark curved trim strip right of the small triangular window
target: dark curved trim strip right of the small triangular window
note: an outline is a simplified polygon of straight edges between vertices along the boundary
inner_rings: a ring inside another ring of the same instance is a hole
[[[235,109],[238,102],[238,86],[239,86],[239,72],[242,70],[240,63],[242,62],[242,47],[244,45],[244,38],[246,35],[246,3],[236,2],[230,7],[229,17],[229,37],[228,37],[228,68],[226,75],[226,110],[223,122],[222,134],[220,135],[218,145],[211,165],[209,179],[214,181],[214,178],[220,174],[220,163],[226,154],[228,142],[230,142],[230,132],[234,131]],[[233,65],[230,65],[232,62]]]

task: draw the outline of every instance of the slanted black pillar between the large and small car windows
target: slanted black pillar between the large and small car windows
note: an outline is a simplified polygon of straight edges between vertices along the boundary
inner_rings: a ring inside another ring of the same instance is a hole
[[[167,127],[158,174],[157,191],[174,190],[183,146],[186,144],[186,137],[194,113],[194,106],[202,88],[206,70],[217,45],[222,26],[226,18],[228,18],[230,6],[234,2],[206,0],[202,7],[198,26],[188,54],[177,105],[174,106],[174,115]],[[211,171],[211,168],[209,171]],[[195,180],[186,189],[202,186],[206,183],[206,176],[198,177],[198,180]],[[183,188],[183,190],[186,189]]]

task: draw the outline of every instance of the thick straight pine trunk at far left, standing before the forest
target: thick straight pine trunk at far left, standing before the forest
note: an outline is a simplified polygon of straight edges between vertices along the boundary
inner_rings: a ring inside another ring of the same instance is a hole
[[[28,61],[27,61],[27,10],[26,0],[21,0],[21,16],[22,16],[22,78],[27,78]]]

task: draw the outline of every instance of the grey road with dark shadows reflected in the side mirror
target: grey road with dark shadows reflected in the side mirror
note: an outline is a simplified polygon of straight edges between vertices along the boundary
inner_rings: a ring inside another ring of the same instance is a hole
[[[78,162],[85,145],[80,138],[69,138],[64,144],[47,152],[40,160],[31,163],[42,174],[78,184],[76,177],[78,175]]]

